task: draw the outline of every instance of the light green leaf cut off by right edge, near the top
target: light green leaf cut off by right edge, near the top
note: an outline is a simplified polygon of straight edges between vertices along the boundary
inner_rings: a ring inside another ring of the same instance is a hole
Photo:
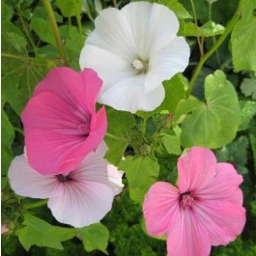
[[[256,71],[256,18],[239,20],[232,35],[232,56],[235,71]]]

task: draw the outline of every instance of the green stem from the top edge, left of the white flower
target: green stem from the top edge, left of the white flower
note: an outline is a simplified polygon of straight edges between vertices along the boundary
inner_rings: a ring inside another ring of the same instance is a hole
[[[49,16],[50,24],[51,24],[53,32],[54,32],[54,36],[55,36],[55,40],[57,43],[60,57],[61,57],[61,59],[63,59],[65,66],[69,66],[68,60],[67,60],[65,52],[64,52],[63,44],[61,41],[60,31],[58,29],[58,25],[57,25],[57,22],[56,22],[56,19],[55,19],[55,16],[54,16],[54,13],[51,8],[49,0],[43,0],[43,5],[44,5],[46,12]]]

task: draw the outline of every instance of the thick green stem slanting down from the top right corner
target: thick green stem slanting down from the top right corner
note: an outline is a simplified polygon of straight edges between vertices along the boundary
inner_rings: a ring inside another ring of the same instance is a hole
[[[225,39],[231,33],[231,31],[232,31],[233,27],[235,26],[235,24],[237,23],[237,21],[240,19],[240,16],[241,16],[240,6],[241,6],[241,4],[239,5],[239,8],[238,8],[237,12],[234,14],[233,18],[229,21],[224,33],[218,38],[218,40],[213,45],[213,47],[201,58],[198,66],[196,67],[196,69],[192,75],[192,78],[189,82],[188,89],[186,92],[186,98],[188,98],[189,95],[191,94],[193,87],[194,87],[194,83],[196,81],[196,78],[197,78],[199,72],[201,71],[203,65],[205,64],[205,62],[213,55],[215,50],[225,41]]]

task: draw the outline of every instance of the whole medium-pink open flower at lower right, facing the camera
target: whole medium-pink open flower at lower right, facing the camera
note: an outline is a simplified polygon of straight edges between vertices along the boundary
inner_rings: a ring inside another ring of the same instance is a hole
[[[200,147],[179,158],[178,172],[178,187],[158,182],[146,195],[149,234],[167,235],[168,256],[206,256],[211,245],[234,241],[245,223],[242,176]]]

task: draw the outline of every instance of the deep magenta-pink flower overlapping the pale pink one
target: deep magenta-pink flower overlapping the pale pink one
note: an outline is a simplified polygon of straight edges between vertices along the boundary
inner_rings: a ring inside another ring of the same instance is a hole
[[[93,70],[56,68],[38,84],[22,122],[30,165],[42,174],[64,174],[95,150],[106,131],[104,107],[96,113],[102,81]]]

